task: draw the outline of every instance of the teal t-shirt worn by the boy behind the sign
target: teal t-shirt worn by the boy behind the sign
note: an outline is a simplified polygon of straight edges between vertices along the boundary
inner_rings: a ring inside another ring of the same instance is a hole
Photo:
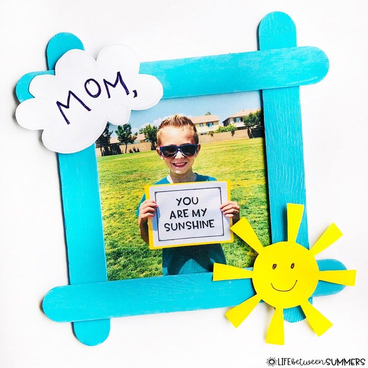
[[[196,175],[195,181],[216,181],[216,179],[211,176]],[[154,184],[169,184],[169,181],[164,177]],[[136,215],[139,214],[139,206],[143,200],[145,200],[145,194],[143,194],[139,202]],[[176,246],[162,249],[163,275],[212,272],[213,263],[226,264],[225,254],[219,243]]]

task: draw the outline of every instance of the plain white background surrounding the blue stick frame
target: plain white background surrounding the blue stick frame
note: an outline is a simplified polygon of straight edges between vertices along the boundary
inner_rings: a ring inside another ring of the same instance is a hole
[[[1,367],[264,367],[269,356],[368,358],[364,2],[2,1]],[[330,60],[324,80],[300,88],[309,239],[335,221],[344,236],[319,257],[357,268],[356,286],[314,299],[334,323],[324,335],[305,321],[285,323],[284,346],[264,342],[271,317],[264,304],[237,329],[224,308],[135,316],[112,320],[101,345],[82,345],[69,323],[52,322],[39,308],[47,290],[67,282],[57,162],[39,132],[15,123],[16,81],[45,69],[45,46],[60,31],[76,34],[93,56],[115,41],[142,61],[210,55],[255,50],[257,24],[273,10],[293,18],[298,45],[318,46]]]

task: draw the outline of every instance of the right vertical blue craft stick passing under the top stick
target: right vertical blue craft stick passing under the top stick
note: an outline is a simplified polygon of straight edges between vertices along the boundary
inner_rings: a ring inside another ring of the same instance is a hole
[[[296,46],[295,24],[282,12],[267,14],[258,36],[259,49]],[[262,98],[272,242],[286,240],[286,203],[298,203],[304,214],[297,242],[308,248],[299,87],[265,89]],[[284,309],[283,316],[289,322],[305,318],[300,307]]]

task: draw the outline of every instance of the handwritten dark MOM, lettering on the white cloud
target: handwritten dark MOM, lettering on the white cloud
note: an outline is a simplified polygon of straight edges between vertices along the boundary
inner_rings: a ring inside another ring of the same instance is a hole
[[[118,71],[116,73],[116,79],[113,83],[109,82],[106,79],[102,79],[103,81],[103,85],[104,88],[106,89],[106,93],[107,93],[107,98],[111,97],[110,94],[110,90],[109,87],[115,88],[117,83],[120,83],[121,86],[124,88],[124,91],[126,93],[126,95],[128,95],[129,89],[127,88],[126,84],[124,83],[124,80],[122,79],[121,73],[120,71]],[[101,85],[98,83],[97,80],[93,79],[93,78],[89,78],[84,82],[84,89],[87,92],[87,94],[92,97],[92,98],[97,98],[101,92],[102,92],[102,88]],[[137,96],[137,91],[136,89],[133,89],[132,92],[134,93],[133,98],[135,98]],[[60,101],[56,101],[56,105],[61,113],[61,115],[63,116],[64,120],[66,121],[67,124],[70,124],[70,121],[68,120],[68,118],[66,117],[64,111],[62,110],[61,107],[64,108],[69,108],[70,107],[70,97],[73,96],[87,111],[90,111],[91,109],[71,90],[68,91],[67,94],[67,99],[66,99],[66,104],[60,102]]]

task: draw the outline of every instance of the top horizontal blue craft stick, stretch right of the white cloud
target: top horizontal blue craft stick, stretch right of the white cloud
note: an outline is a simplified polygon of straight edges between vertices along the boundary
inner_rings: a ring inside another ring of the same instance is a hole
[[[160,80],[162,98],[311,84],[327,71],[325,53],[309,46],[142,62],[139,69]]]

